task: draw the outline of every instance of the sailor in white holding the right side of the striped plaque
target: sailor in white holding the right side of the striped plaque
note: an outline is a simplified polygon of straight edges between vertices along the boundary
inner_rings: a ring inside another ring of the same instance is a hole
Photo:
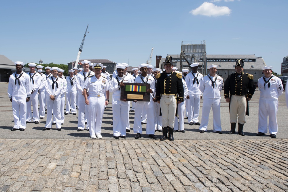
[[[135,79],[135,83],[149,83],[150,89],[147,89],[147,93],[155,93],[155,80],[153,77],[147,75],[147,66],[148,64],[141,64],[138,67],[141,70],[141,75],[139,75]],[[150,95],[150,101],[137,101],[135,104],[135,117],[134,117],[134,126],[133,131],[136,133],[135,139],[139,139],[142,137],[142,125],[141,125],[141,113],[143,108],[146,109],[147,112],[147,126],[146,126],[146,134],[149,135],[152,139],[157,139],[154,135],[155,133],[155,123],[154,123],[154,101],[152,100],[152,96]]]

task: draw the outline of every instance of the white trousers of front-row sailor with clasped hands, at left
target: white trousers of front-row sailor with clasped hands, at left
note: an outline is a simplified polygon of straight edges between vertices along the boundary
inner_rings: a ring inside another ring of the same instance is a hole
[[[47,97],[47,119],[46,119],[46,128],[52,127],[52,110],[53,110],[53,116],[55,116],[55,123],[56,128],[61,128],[61,98],[60,96],[52,101],[49,97]]]

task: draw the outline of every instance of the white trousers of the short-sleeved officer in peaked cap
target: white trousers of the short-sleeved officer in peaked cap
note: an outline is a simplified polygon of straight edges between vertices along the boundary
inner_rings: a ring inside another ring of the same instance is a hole
[[[80,95],[79,95],[80,98]],[[88,105],[88,126],[89,132],[91,135],[100,135],[102,127],[102,118],[105,109],[105,97],[97,97],[97,95],[88,96],[89,105]],[[80,103],[80,100],[79,100]],[[80,114],[80,113],[79,113]]]

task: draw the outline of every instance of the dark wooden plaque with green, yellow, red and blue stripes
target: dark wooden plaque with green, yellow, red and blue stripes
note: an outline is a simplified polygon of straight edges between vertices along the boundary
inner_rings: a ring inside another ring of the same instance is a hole
[[[147,89],[150,89],[150,83],[124,83],[125,86],[121,87],[120,100],[123,101],[150,101],[150,93],[147,93]]]

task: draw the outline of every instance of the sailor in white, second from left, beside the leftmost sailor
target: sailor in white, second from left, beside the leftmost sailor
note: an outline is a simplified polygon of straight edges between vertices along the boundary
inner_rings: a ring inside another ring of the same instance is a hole
[[[33,122],[35,124],[39,124],[40,118],[39,118],[39,110],[38,110],[38,102],[39,102],[38,90],[41,85],[42,78],[41,78],[41,75],[35,71],[35,66],[36,66],[35,63],[29,63],[28,66],[29,66],[30,72],[28,72],[27,74],[29,75],[30,81],[32,84],[32,92],[31,92],[30,100],[27,102],[26,121],[30,123],[33,117]],[[33,106],[33,114],[31,110],[31,103]]]

